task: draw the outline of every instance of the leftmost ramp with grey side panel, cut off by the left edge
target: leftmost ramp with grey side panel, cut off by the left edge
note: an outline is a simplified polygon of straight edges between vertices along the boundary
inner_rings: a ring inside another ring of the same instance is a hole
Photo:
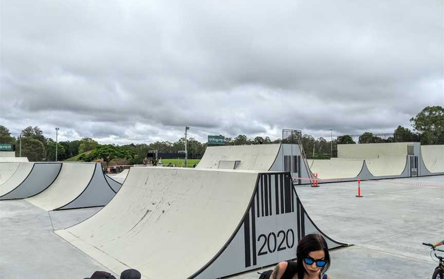
[[[62,163],[20,163],[22,164],[26,168],[31,166],[31,170],[26,176],[24,171],[17,175],[17,179],[10,179],[0,186],[0,200],[25,199],[41,193],[54,182],[62,167]]]

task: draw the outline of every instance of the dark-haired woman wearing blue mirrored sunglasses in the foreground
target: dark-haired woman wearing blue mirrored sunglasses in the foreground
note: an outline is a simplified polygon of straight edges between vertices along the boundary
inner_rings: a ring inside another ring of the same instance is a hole
[[[276,265],[270,279],[331,279],[325,274],[330,267],[330,255],[321,235],[309,234],[302,238],[296,257],[296,261],[282,261]]]

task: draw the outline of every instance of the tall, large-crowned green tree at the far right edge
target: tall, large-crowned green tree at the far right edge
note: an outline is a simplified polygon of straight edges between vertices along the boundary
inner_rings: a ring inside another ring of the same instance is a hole
[[[444,109],[426,107],[410,119],[413,128],[421,133],[422,144],[444,144]]]

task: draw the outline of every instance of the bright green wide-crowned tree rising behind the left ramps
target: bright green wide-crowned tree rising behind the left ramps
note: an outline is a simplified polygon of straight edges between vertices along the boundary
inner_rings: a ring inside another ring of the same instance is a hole
[[[82,154],[80,160],[91,162],[96,159],[102,159],[108,166],[109,161],[113,159],[133,159],[135,154],[133,151],[114,145],[98,145],[88,154]]]

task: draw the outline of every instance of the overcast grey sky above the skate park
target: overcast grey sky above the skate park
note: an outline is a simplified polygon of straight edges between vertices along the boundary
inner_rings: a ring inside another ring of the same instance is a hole
[[[442,0],[0,3],[0,125],[14,136],[329,139],[444,106]]]

